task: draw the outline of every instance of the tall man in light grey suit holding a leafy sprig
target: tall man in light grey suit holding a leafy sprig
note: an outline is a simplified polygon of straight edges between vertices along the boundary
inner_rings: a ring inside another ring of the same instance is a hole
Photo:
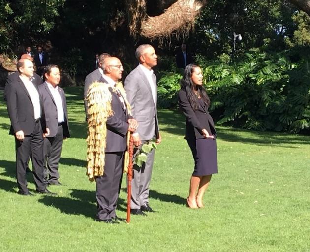
[[[132,116],[139,127],[133,134],[134,143],[139,148],[152,139],[161,142],[157,120],[157,85],[152,67],[157,65],[157,55],[151,45],[140,45],[136,49],[139,65],[125,79],[125,90],[131,105]],[[142,167],[134,165],[131,190],[131,213],[145,215],[143,211],[154,212],[149,205],[150,181],[155,149],[148,153]]]

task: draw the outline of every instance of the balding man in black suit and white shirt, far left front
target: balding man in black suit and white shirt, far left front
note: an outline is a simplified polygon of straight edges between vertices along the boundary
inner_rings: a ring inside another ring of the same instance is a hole
[[[31,82],[33,63],[21,59],[17,63],[19,79],[5,87],[6,104],[11,120],[10,134],[15,136],[16,177],[21,195],[32,195],[27,188],[26,168],[29,156],[32,161],[36,192],[54,194],[46,189],[43,181],[43,131],[46,128],[41,97]]]

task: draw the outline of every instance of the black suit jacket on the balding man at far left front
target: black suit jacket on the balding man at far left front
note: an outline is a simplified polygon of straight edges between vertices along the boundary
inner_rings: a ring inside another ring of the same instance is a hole
[[[34,85],[38,90],[38,87]],[[39,92],[39,90],[38,90]],[[23,130],[24,135],[30,135],[34,129],[34,112],[30,95],[23,83],[18,78],[5,87],[7,111],[11,120],[10,134],[15,135],[17,131]],[[46,131],[44,109],[42,106],[42,97],[40,97],[41,105],[41,126],[43,132]]]

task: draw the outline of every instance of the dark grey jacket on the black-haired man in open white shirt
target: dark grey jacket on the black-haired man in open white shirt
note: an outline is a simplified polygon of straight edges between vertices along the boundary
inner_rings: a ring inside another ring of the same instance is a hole
[[[42,96],[46,127],[48,127],[50,130],[50,135],[48,137],[54,137],[56,136],[58,129],[57,106],[46,82],[39,86],[39,92]],[[64,113],[63,137],[70,137],[65,94],[61,87],[58,87],[58,92],[62,97],[62,106]]]

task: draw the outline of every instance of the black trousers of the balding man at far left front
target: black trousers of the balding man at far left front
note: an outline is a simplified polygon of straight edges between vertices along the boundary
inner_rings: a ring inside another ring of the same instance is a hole
[[[16,179],[21,192],[27,193],[26,168],[29,156],[32,161],[32,173],[36,189],[46,189],[43,183],[43,132],[40,122],[35,123],[31,135],[25,136],[23,141],[15,137],[16,150]]]

